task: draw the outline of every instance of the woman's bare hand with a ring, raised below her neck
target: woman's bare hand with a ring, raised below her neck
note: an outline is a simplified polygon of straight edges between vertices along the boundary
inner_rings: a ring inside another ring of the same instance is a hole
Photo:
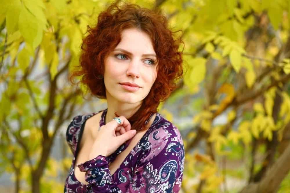
[[[98,155],[111,155],[125,141],[135,136],[136,130],[131,130],[129,121],[124,116],[119,118],[121,120],[119,126],[117,121],[112,120],[100,127],[98,136],[89,154],[89,160],[94,159]]]

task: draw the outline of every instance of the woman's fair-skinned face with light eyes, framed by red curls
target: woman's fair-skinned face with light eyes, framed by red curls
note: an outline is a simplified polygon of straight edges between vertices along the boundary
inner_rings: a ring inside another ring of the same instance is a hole
[[[130,28],[121,35],[122,40],[104,61],[106,96],[123,103],[140,103],[157,77],[156,53],[145,32]]]

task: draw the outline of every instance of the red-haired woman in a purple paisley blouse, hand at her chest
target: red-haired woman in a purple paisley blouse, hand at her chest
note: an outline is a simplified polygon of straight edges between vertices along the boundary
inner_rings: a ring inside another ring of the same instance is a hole
[[[132,4],[114,3],[88,28],[71,78],[82,75],[108,108],[68,126],[74,158],[64,192],[179,192],[182,137],[157,106],[182,76],[180,43],[161,13]]]

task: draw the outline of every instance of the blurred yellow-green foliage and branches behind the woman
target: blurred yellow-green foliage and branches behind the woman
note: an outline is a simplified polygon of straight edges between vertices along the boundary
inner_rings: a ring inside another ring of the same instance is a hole
[[[127,2],[182,30],[185,74],[158,108],[184,140],[180,192],[290,192],[289,1]],[[68,74],[110,3],[1,0],[0,192],[63,192],[69,122],[106,108]]]

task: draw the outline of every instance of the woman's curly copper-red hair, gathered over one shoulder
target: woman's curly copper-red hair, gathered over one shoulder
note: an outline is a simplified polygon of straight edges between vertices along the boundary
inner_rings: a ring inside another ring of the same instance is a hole
[[[106,98],[104,84],[104,59],[121,41],[121,32],[127,28],[137,28],[150,36],[157,55],[157,78],[150,92],[144,98],[141,107],[128,120],[132,128],[142,130],[152,113],[157,112],[160,102],[164,101],[176,87],[176,80],[183,74],[182,51],[179,46],[183,41],[175,38],[168,28],[168,21],[160,10],[141,8],[135,4],[110,5],[98,16],[95,27],[88,26],[88,35],[81,44],[79,58],[80,70],[75,70],[70,81],[82,76],[80,82],[87,85],[92,95]]]

